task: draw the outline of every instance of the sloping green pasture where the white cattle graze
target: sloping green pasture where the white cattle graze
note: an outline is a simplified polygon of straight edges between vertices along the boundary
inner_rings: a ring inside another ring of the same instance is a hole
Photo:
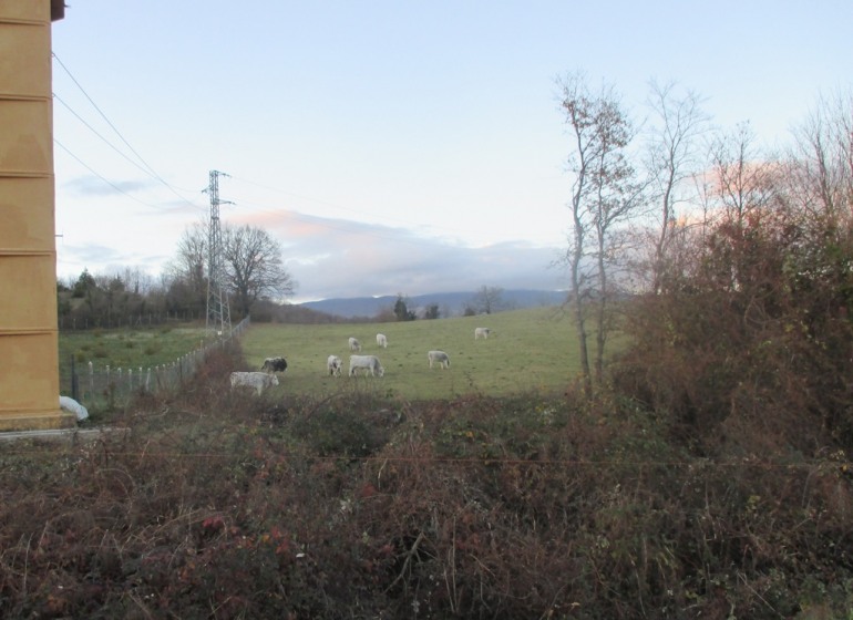
[[[492,330],[489,340],[474,341],[477,327]],[[388,337],[388,349],[377,345],[377,333]],[[361,342],[361,354],[379,356],[383,378],[348,376],[350,337]],[[239,370],[259,370],[265,358],[284,355],[288,368],[276,391],[299,394],[331,394],[353,385],[408,400],[555,392],[579,371],[574,327],[559,308],[390,323],[255,323],[240,342],[247,368]],[[450,355],[450,369],[429,368],[431,349]],[[328,375],[331,354],[343,361],[342,376]]]

